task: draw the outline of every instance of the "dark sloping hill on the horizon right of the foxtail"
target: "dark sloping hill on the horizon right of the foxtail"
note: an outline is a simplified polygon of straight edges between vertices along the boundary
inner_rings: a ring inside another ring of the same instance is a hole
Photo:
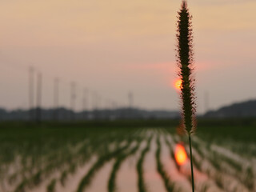
[[[243,118],[256,117],[256,100],[234,103],[204,114],[206,118]]]

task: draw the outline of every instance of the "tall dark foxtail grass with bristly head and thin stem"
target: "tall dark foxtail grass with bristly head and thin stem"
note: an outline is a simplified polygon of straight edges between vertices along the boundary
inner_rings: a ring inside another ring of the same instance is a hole
[[[193,158],[191,147],[191,134],[194,133],[195,123],[195,103],[194,103],[194,78],[192,76],[193,64],[193,34],[191,15],[187,8],[186,0],[182,1],[181,10],[178,11],[178,29],[176,37],[177,45],[177,62],[178,76],[182,80],[181,98],[182,98],[182,129],[188,134],[190,144],[190,166],[191,166],[191,183],[194,192],[194,172]]]

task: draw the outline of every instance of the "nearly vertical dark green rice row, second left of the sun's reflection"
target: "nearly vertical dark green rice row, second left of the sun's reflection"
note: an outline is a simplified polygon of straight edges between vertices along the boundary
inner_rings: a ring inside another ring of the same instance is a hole
[[[150,138],[147,141],[145,149],[142,150],[142,154],[137,162],[137,172],[138,172],[138,191],[139,192],[146,192],[146,184],[143,179],[143,162],[145,159],[146,154],[150,151],[150,143],[153,136],[150,136]]]

